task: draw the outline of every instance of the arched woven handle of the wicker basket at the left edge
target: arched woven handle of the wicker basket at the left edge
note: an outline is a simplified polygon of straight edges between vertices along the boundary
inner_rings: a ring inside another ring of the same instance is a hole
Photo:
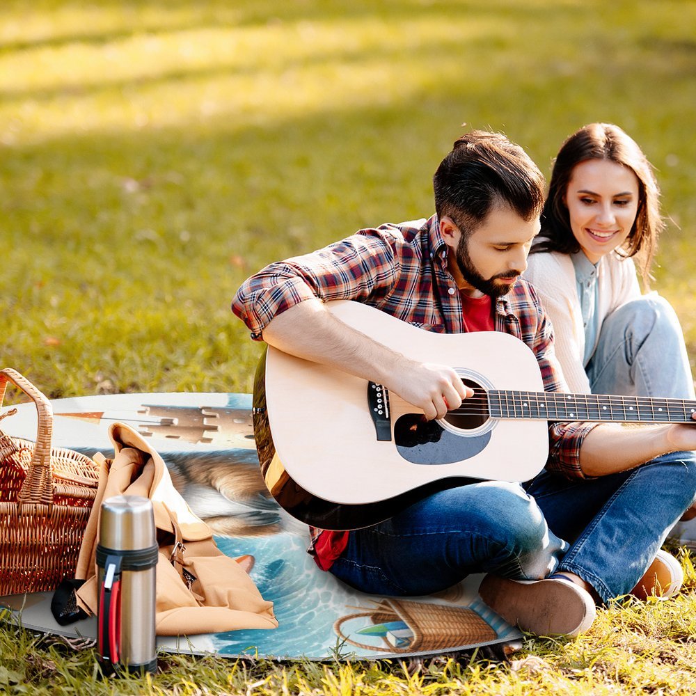
[[[53,480],[51,473],[51,437],[53,433],[53,408],[49,400],[17,370],[6,367],[0,370],[0,406],[5,400],[7,383],[12,382],[33,400],[38,413],[36,444],[29,471],[17,496],[17,503],[53,505]]]

